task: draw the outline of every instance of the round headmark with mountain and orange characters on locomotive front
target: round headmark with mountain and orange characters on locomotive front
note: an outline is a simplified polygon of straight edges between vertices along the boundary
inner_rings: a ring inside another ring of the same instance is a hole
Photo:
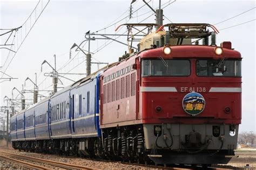
[[[198,115],[205,108],[204,97],[196,92],[186,94],[182,100],[182,107],[187,114]]]

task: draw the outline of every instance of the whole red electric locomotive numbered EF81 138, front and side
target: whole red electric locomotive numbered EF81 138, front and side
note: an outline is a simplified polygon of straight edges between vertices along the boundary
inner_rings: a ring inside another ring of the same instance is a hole
[[[217,33],[210,24],[161,26],[140,40],[137,53],[102,73],[108,156],[156,164],[231,159],[241,123],[241,55],[231,42],[217,46]]]

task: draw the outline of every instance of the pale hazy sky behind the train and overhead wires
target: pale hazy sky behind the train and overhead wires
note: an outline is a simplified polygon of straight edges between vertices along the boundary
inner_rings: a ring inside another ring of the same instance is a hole
[[[31,18],[28,19],[22,29],[16,32],[14,46],[17,47],[21,44],[24,36],[28,33],[31,23],[35,21],[42,11],[42,7],[47,2],[48,0],[40,1],[37,6],[38,8],[32,13]],[[153,8],[158,7],[159,1],[149,0],[147,2]],[[255,1],[177,0],[174,3],[172,2],[162,0],[162,4],[164,4],[162,7],[166,6],[164,8],[164,24],[170,23],[171,21],[173,23],[210,23],[214,25],[255,7]],[[38,1],[0,0],[0,29],[11,29],[21,26],[37,3]],[[52,70],[48,65],[44,64],[42,67],[43,71],[41,72],[41,64],[44,60],[47,60],[54,66],[53,55],[56,55],[57,70],[59,73],[85,73],[86,63],[84,62],[85,56],[82,52],[76,52],[72,49],[70,59],[71,46],[73,43],[80,44],[83,42],[85,40],[85,32],[89,30],[91,32],[100,30],[97,33],[124,33],[125,28],[120,29],[119,32],[115,32],[114,29],[118,25],[126,22],[138,23],[144,19],[144,23],[155,22],[152,11],[140,0],[133,3],[133,11],[137,11],[133,13],[132,18],[127,18],[130,3],[131,1],[50,1],[5,72],[18,79],[0,83],[0,106],[6,104],[3,100],[5,96],[12,97],[12,89],[14,87],[19,91],[22,90],[22,84],[24,85],[26,77],[35,81],[35,73],[37,73],[39,90],[51,90],[52,79],[45,77],[44,73],[51,72]],[[125,19],[120,21],[122,18]],[[252,21],[253,19],[255,19],[255,8],[233,19],[215,25],[220,30],[220,33],[217,35],[217,44],[219,45],[223,41],[231,41],[232,47],[238,50],[243,58],[242,124],[240,125],[240,132],[256,132],[255,21]],[[247,21],[252,22],[245,23]],[[245,24],[238,25],[241,23]],[[234,27],[228,28],[231,26]],[[0,33],[4,32],[4,30],[0,31]],[[7,35],[0,36],[0,44],[4,44],[6,38],[8,38]],[[12,38],[13,35],[9,42],[11,42]],[[126,43],[125,37],[120,37],[118,40]],[[91,41],[90,51],[94,53],[92,55],[92,62],[113,63],[127,51],[127,47],[123,44],[112,42],[107,45],[108,43],[109,41],[107,40]],[[82,44],[82,46],[84,46],[83,49],[88,50],[88,44]],[[105,47],[101,49],[103,46]],[[5,63],[8,53],[8,50],[0,49],[0,66],[3,66]],[[8,58],[8,61],[10,61],[10,58]],[[100,65],[99,67],[102,66],[104,65]],[[93,64],[92,72],[96,71],[97,68],[97,64]],[[78,80],[83,77],[83,75],[65,76],[72,80]],[[61,80],[63,85],[59,84],[59,87],[68,86],[72,83],[72,81],[64,78],[61,78]],[[25,85],[25,90],[33,90],[33,84],[30,81],[26,81]],[[16,98],[18,92],[13,91],[13,93]],[[39,93],[43,96],[49,95],[48,91],[41,91]],[[32,93],[25,93],[25,98],[32,99]],[[20,99],[20,97],[18,96],[17,99]],[[28,100],[28,102],[32,101]],[[3,113],[0,113],[0,115],[3,115]]]

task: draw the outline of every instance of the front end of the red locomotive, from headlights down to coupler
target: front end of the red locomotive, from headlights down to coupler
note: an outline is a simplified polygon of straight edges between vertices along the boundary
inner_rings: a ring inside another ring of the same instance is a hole
[[[170,37],[177,36],[172,31]],[[214,35],[202,33],[204,39]],[[139,119],[156,164],[226,164],[231,159],[226,156],[234,155],[241,123],[241,55],[230,42],[211,44],[166,44],[139,55]]]

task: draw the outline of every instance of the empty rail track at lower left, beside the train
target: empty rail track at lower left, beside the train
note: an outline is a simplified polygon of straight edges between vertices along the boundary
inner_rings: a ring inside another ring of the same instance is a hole
[[[46,160],[46,159],[35,158],[35,157],[28,157],[25,155],[17,155],[17,154],[2,152],[2,151],[0,151],[0,157],[1,157],[1,159],[5,159],[6,161],[12,161],[12,162],[15,162],[16,164],[20,164],[20,165],[23,165],[25,167],[32,168],[32,169],[51,169],[51,168],[44,167],[44,166],[37,165],[37,164],[32,164],[28,161],[38,162],[40,164],[51,165],[51,166],[59,167],[59,168],[63,168],[63,169],[97,169],[95,167],[66,164],[64,162]],[[24,161],[24,160],[26,160],[26,161]]]

